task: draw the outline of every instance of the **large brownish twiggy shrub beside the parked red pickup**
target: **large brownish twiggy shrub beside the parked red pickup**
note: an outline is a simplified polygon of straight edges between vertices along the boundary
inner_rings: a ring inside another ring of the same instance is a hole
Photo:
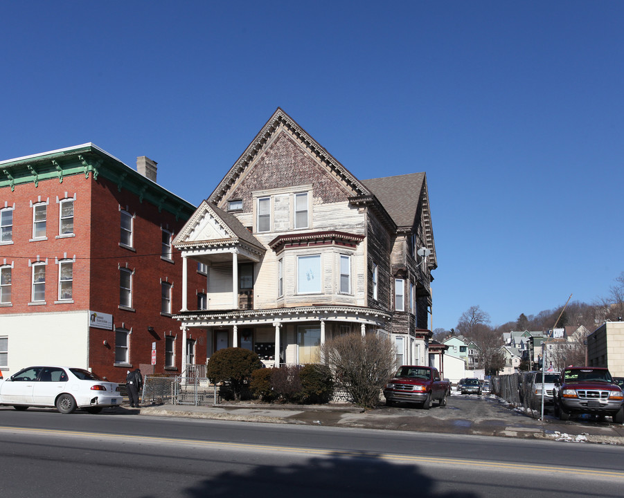
[[[341,335],[328,340],[321,344],[321,358],[353,402],[364,408],[380,404],[381,389],[396,370],[391,340],[373,334]]]

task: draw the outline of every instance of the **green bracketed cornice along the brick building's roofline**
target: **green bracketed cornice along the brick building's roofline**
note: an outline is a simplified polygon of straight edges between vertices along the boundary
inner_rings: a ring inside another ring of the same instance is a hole
[[[141,203],[148,202],[157,206],[159,212],[165,210],[177,219],[187,219],[195,206],[175,194],[164,189],[157,183],[148,180],[135,169],[125,165],[114,156],[107,154],[91,143],[45,152],[35,156],[17,158],[0,162],[0,188],[34,183],[55,179],[63,183],[65,176],[84,174],[98,181],[101,175],[114,183],[118,190],[128,190],[139,197]]]

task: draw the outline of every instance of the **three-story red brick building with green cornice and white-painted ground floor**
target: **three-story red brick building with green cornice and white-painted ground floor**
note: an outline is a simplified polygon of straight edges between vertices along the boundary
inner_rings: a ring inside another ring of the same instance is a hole
[[[157,185],[150,159],[138,158],[137,170],[91,143],[0,162],[5,376],[70,365],[123,382],[131,367],[151,374],[205,362],[194,335],[183,351],[172,319],[182,295],[172,239],[195,207]],[[201,308],[206,276],[188,271],[187,281]]]

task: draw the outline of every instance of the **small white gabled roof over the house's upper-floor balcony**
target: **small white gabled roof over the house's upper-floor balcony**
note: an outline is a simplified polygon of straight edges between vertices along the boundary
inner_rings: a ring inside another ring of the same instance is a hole
[[[173,241],[176,247],[197,245],[197,243],[215,243],[224,241],[242,241],[256,252],[264,254],[265,248],[244,228],[235,216],[204,201],[195,214],[188,220],[184,228]]]

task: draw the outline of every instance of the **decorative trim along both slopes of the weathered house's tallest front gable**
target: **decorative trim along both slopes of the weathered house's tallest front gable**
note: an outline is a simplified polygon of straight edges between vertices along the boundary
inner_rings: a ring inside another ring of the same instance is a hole
[[[371,192],[362,182],[357,180],[346,167],[341,165],[312,136],[278,107],[273,116],[256,135],[256,138],[253,139],[249,147],[245,149],[240,158],[238,158],[213,193],[208,197],[208,201],[220,208],[225,208],[226,201],[236,192],[245,176],[253,169],[253,166],[269,154],[272,145],[285,136],[295,142],[299,149],[315,165],[324,169],[328,175],[335,179],[337,185],[340,186],[344,193],[344,199],[371,195]],[[287,178],[284,180],[287,181]]]

